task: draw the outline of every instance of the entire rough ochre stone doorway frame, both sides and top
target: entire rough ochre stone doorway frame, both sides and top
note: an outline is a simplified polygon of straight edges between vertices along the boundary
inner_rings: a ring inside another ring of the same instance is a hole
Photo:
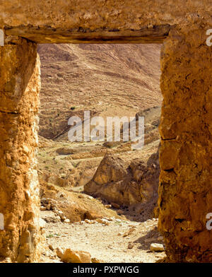
[[[159,228],[167,261],[212,261],[211,0],[0,0],[1,259],[39,260],[36,43],[163,43]]]

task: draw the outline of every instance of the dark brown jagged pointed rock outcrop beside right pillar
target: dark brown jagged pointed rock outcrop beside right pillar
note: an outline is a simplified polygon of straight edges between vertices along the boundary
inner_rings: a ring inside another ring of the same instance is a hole
[[[135,159],[126,162],[106,154],[93,179],[86,184],[86,193],[122,206],[143,204],[158,197],[158,154],[145,164]]]

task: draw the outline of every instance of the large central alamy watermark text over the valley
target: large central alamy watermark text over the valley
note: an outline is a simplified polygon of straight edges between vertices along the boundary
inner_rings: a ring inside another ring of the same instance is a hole
[[[122,135],[123,141],[134,142],[132,150],[141,149],[144,145],[144,117],[137,120],[136,117],[107,117],[105,123],[103,117],[90,119],[90,111],[85,111],[83,121],[73,116],[69,118],[68,125],[73,125],[68,132],[69,141],[121,141]],[[92,130],[91,125],[95,125]]]

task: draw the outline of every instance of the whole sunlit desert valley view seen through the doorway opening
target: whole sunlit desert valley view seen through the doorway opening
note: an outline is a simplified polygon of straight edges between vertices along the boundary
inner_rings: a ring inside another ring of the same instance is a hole
[[[163,261],[157,228],[160,45],[39,45],[38,53],[42,261],[68,261],[81,251],[93,262]],[[83,120],[84,111],[144,117],[144,147],[69,141],[68,119]]]

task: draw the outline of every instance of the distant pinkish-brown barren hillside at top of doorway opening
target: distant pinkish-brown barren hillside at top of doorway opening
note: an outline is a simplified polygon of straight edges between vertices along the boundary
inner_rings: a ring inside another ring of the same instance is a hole
[[[38,52],[40,135],[47,139],[83,110],[121,117],[161,104],[160,45],[39,45]]]

